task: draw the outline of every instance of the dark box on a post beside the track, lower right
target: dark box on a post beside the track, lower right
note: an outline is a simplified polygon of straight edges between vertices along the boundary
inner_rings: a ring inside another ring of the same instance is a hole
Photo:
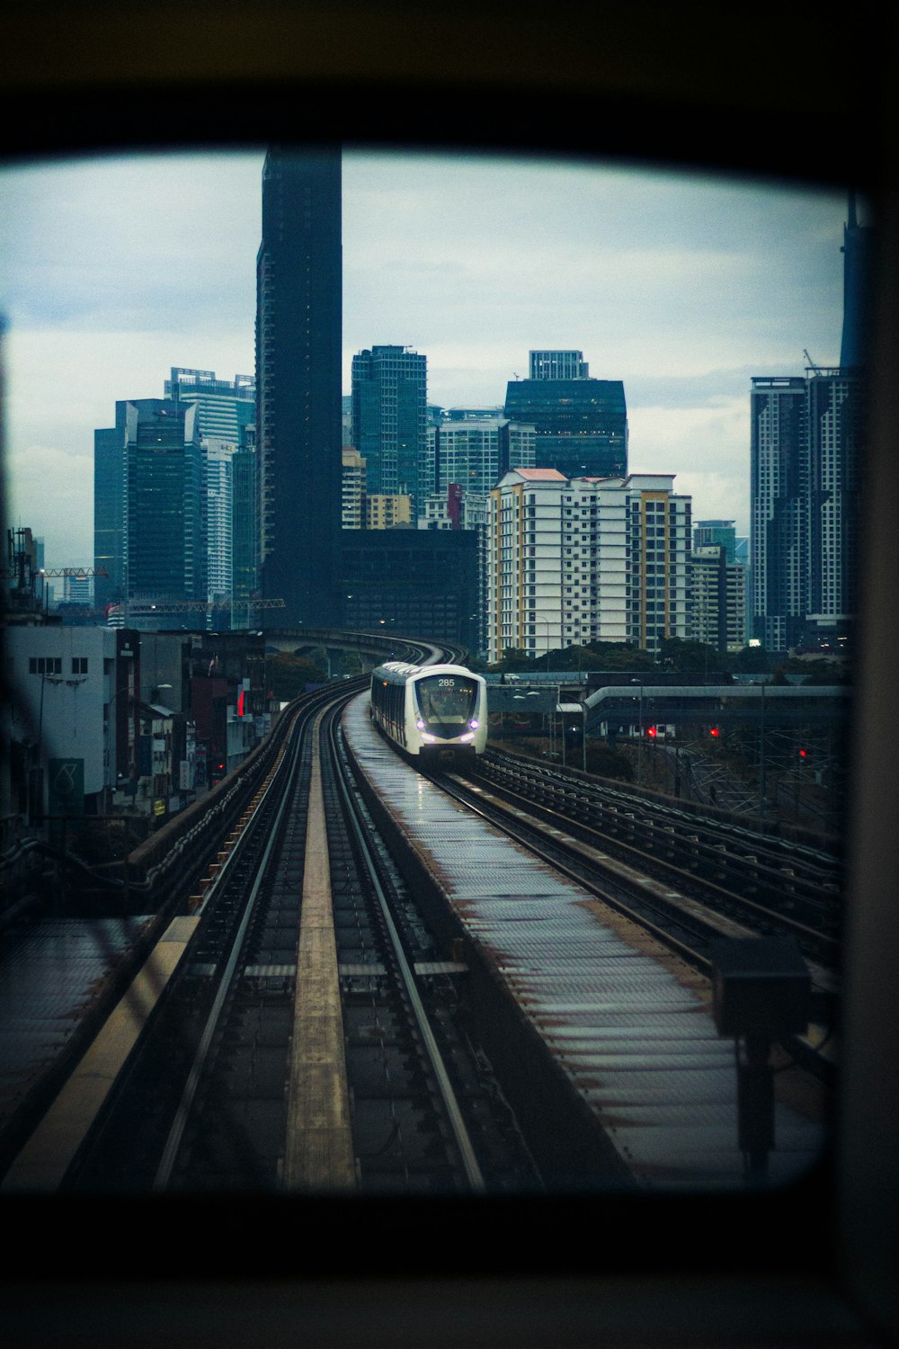
[[[718,1035],[803,1033],[811,979],[793,938],[731,938],[712,943],[712,1010]]]

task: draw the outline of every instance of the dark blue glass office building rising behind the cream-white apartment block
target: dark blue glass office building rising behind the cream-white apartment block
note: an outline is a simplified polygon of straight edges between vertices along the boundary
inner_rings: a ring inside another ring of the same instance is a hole
[[[623,476],[628,445],[624,384],[588,378],[581,356],[531,352],[531,378],[509,380],[504,414],[536,429],[538,468],[555,468],[566,478]],[[557,378],[561,371],[566,375]]]

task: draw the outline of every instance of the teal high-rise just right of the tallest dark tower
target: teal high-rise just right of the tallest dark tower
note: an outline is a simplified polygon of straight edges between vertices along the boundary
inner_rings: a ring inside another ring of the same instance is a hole
[[[419,499],[427,428],[427,357],[408,347],[372,347],[353,356],[353,447],[365,460],[368,491]]]

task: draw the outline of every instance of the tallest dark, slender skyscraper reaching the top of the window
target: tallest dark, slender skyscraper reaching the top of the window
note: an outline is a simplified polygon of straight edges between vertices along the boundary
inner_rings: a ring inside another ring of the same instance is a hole
[[[256,259],[256,467],[268,626],[338,622],[341,156],[272,148]]]

